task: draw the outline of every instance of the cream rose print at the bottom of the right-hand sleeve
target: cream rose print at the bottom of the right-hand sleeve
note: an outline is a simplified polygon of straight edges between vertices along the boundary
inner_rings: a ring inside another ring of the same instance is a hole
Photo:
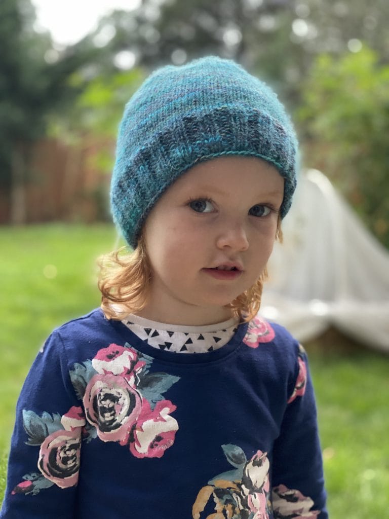
[[[279,485],[272,490],[274,519],[316,519],[318,510],[311,510],[313,500],[305,497],[299,490]]]

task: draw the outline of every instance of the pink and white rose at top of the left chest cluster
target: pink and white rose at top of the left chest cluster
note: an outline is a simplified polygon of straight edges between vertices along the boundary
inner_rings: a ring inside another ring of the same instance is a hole
[[[110,344],[107,348],[102,348],[92,360],[94,370],[100,375],[109,373],[121,375],[131,385],[134,385],[135,375],[142,370],[144,365],[144,361],[138,360],[135,350],[117,344]]]

